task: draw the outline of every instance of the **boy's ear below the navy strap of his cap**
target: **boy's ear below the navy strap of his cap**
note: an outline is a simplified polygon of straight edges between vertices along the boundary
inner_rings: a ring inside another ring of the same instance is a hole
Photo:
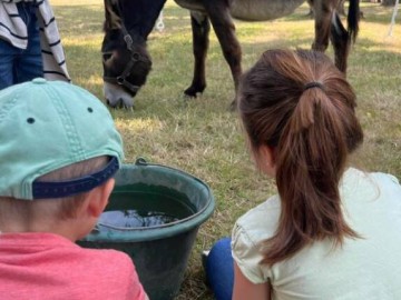
[[[104,184],[89,192],[88,213],[91,217],[98,218],[105,210],[114,186],[115,180],[110,178]]]

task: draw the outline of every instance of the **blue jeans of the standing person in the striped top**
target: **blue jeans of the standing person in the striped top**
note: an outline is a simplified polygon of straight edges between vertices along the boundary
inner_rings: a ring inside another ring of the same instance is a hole
[[[0,39],[0,90],[37,77],[43,77],[36,7],[32,2],[19,2],[17,8],[28,28],[28,47],[19,49]]]

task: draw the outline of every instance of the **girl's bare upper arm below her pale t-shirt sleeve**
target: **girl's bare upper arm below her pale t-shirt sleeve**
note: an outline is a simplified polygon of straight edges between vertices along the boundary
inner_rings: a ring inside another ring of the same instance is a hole
[[[268,282],[255,284],[252,283],[241,272],[236,262],[234,262],[234,291],[233,300],[271,300],[271,284]]]

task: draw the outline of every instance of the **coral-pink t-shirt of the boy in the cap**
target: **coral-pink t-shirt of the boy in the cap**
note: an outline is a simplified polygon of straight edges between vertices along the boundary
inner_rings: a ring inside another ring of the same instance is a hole
[[[2,300],[144,300],[131,259],[52,233],[0,233]]]

